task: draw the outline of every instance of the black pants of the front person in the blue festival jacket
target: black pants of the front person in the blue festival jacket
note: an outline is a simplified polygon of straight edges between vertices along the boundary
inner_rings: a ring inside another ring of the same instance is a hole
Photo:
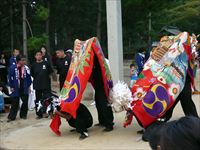
[[[20,108],[20,118],[27,117],[28,113],[28,95],[22,95],[20,97],[11,97],[11,109],[8,115],[8,119],[15,120],[17,116],[17,112],[19,109],[19,100],[22,100],[22,105]]]

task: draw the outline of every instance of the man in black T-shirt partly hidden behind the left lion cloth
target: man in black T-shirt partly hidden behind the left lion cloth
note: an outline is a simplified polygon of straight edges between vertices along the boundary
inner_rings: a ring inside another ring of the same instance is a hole
[[[57,73],[59,74],[60,90],[63,87],[69,66],[71,63],[71,56],[66,55],[63,49],[56,50],[58,60],[56,62]]]

